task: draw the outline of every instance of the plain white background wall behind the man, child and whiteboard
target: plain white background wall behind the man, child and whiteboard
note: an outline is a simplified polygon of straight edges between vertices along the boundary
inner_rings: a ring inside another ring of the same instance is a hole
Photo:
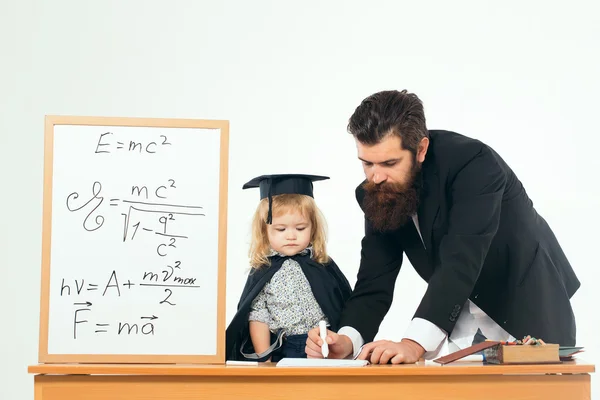
[[[257,175],[332,178],[315,195],[354,284],[363,177],[345,128],[382,89],[417,93],[430,128],[479,138],[515,169],[582,281],[578,344],[595,362],[598,11],[574,0],[0,0],[0,399],[33,398],[45,114],[231,121],[229,321],[258,200],[241,186]],[[406,263],[379,337],[401,338],[424,289]],[[592,386],[600,394],[597,374]]]

